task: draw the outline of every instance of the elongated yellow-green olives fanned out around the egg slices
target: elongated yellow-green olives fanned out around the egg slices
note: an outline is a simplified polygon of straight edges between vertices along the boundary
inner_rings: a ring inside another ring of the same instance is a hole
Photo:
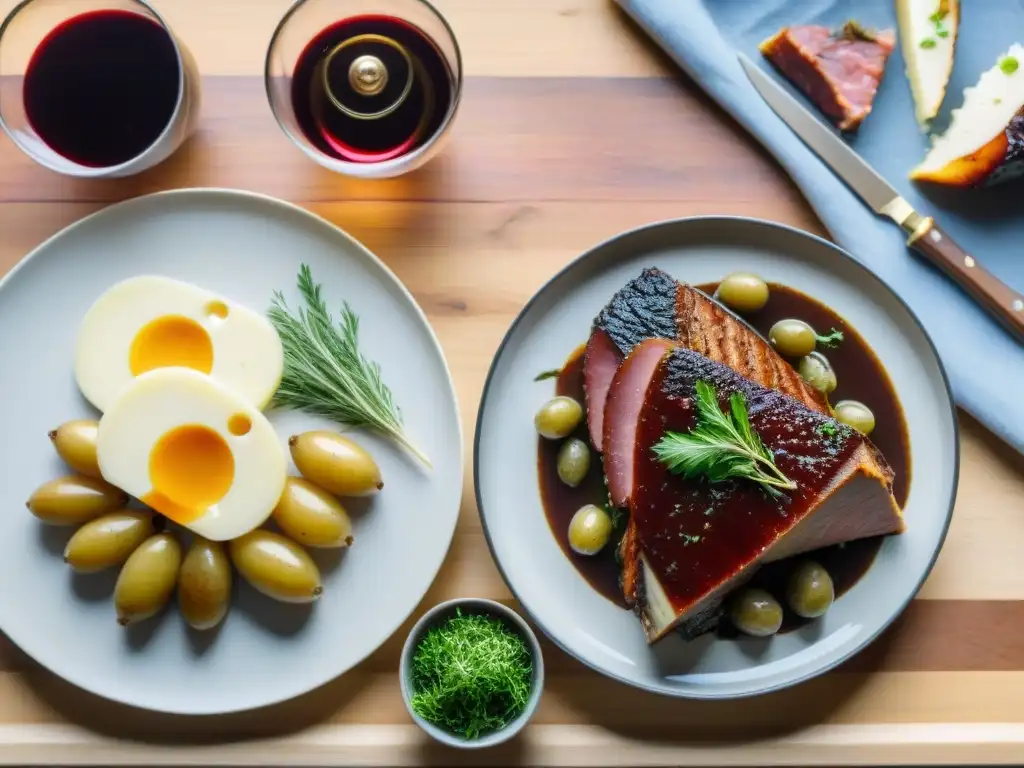
[[[123,626],[156,615],[176,591],[190,627],[216,627],[230,603],[232,569],[275,600],[315,600],[323,592],[321,573],[303,547],[350,546],[352,523],[336,497],[369,496],[384,486],[362,447],[335,432],[303,432],[288,441],[302,477],[286,480],[271,513],[284,535],[258,528],[226,544],[194,536],[184,550],[163,516],[127,507],[128,495],[102,479],[97,434],[95,421],[70,421],[50,432],[57,455],[75,473],[44,483],[26,506],[44,523],[81,526],[63,553],[75,571],[121,568],[114,605]]]

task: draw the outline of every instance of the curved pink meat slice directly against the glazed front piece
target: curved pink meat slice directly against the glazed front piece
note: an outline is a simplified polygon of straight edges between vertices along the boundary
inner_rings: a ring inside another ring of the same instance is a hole
[[[611,380],[604,406],[604,478],[616,507],[628,506],[633,493],[633,446],[647,386],[673,346],[668,339],[640,342]]]

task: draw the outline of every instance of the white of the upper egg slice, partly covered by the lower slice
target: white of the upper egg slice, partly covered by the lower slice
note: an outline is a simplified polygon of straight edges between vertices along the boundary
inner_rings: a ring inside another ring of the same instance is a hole
[[[226,309],[217,316],[211,307]],[[273,326],[258,312],[203,288],[160,275],[129,278],[89,308],[79,329],[75,378],[93,406],[106,411],[134,378],[130,350],[138,333],[161,317],[195,321],[209,335],[209,375],[259,409],[281,384],[285,353]]]

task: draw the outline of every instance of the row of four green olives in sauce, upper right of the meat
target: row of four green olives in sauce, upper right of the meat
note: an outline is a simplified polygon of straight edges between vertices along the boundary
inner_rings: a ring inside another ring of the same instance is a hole
[[[768,303],[768,284],[757,274],[727,274],[715,291],[715,298],[737,312],[756,312]],[[839,382],[828,358],[817,351],[819,336],[802,319],[780,319],[768,331],[768,341],[785,357],[797,359],[800,377],[825,397],[836,391]],[[833,417],[862,434],[874,429],[874,414],[857,400],[841,400],[833,407]]]

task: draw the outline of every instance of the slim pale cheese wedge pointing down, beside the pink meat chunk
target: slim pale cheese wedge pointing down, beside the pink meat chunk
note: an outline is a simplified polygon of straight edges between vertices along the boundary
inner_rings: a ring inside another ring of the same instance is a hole
[[[953,71],[959,0],[896,0],[906,77],[918,122],[926,125],[942,108]]]

